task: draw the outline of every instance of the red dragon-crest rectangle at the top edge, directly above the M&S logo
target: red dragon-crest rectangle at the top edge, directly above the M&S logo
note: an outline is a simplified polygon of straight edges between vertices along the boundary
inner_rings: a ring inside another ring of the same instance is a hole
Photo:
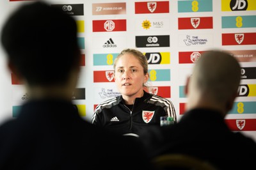
[[[154,12],[148,10],[148,3],[150,2],[136,2],[135,13],[169,13],[169,1],[152,2],[156,3],[156,10]]]

